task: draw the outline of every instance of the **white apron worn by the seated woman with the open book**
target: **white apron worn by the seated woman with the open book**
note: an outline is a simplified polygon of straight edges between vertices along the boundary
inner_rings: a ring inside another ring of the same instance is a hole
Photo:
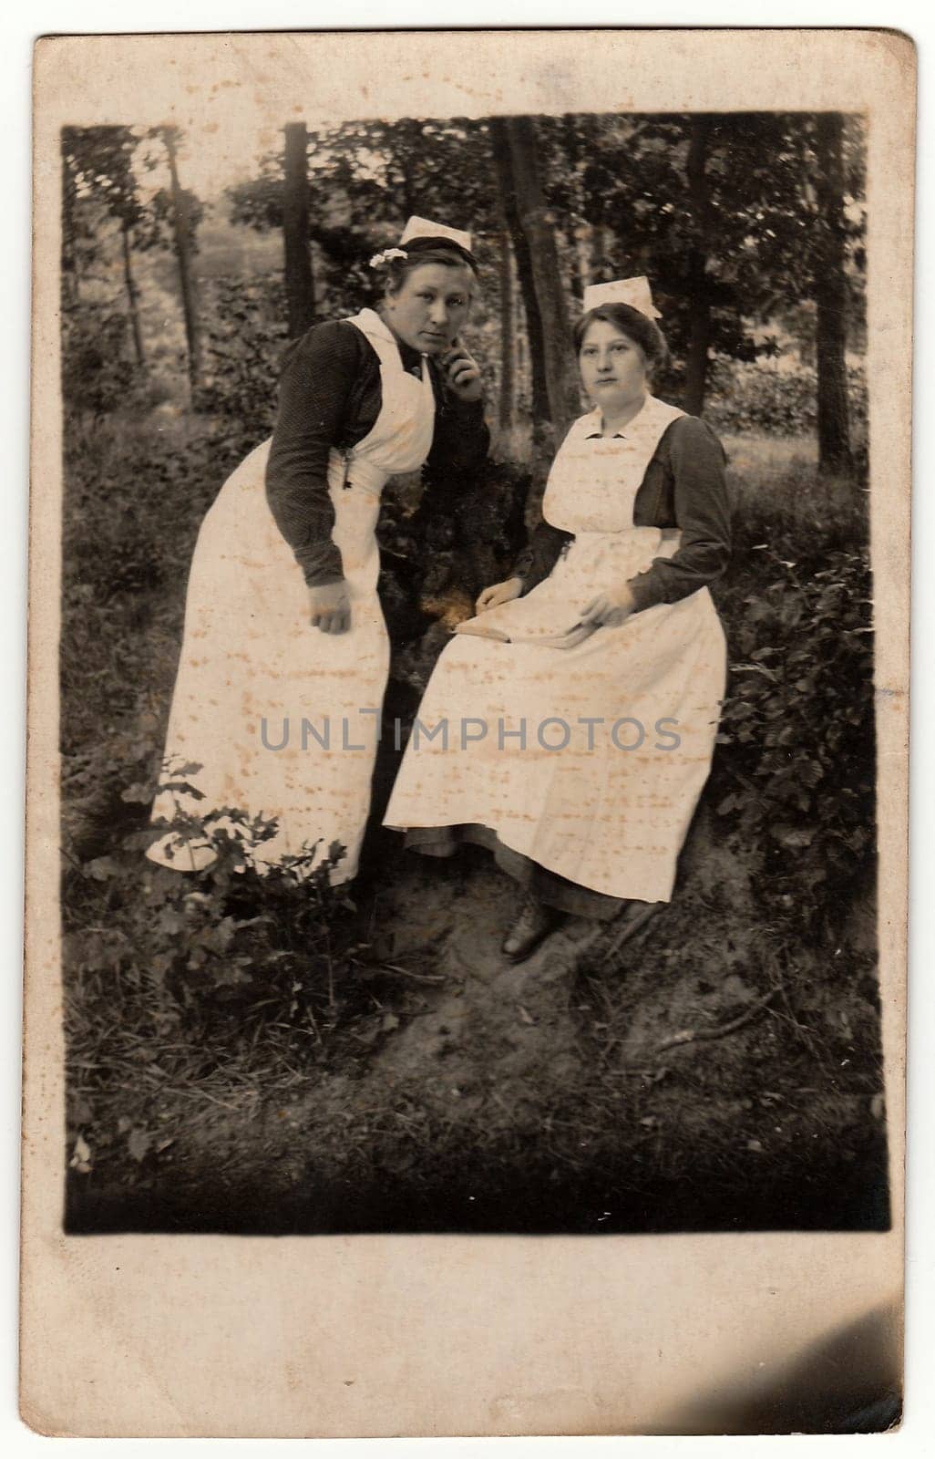
[[[710,594],[702,588],[635,613],[575,649],[534,641],[572,627],[600,591],[677,550],[677,531],[633,525],[633,503],[662,433],[681,414],[649,397],[623,439],[588,439],[601,427],[598,411],[575,422],[543,499],[546,519],[575,540],[525,598],[480,616],[478,626],[518,642],[458,635],[446,646],[388,826],[478,823],[594,891],[671,899],[725,690],[725,639]]]

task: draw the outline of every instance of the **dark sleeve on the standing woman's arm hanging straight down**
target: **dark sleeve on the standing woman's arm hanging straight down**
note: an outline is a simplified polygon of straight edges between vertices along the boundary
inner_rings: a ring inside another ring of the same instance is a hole
[[[359,330],[333,321],[303,334],[283,368],[267,463],[267,500],[309,587],[340,582],[344,576],[341,554],[331,540],[328,455],[341,438],[349,395],[366,366],[368,352],[372,353]]]

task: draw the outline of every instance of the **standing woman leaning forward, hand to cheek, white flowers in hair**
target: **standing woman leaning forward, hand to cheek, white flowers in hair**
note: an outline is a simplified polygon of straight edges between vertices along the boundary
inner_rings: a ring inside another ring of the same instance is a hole
[[[153,818],[274,818],[257,862],[315,848],[312,867],[337,842],[331,880],[354,875],[389,667],[381,490],[429,461],[454,492],[487,452],[480,372],[458,338],[477,283],[470,244],[411,217],[400,247],[370,260],[385,273],[378,308],[314,325],[290,347],[273,438],[229,477],[198,534]],[[169,833],[147,855],[187,871],[216,854]]]

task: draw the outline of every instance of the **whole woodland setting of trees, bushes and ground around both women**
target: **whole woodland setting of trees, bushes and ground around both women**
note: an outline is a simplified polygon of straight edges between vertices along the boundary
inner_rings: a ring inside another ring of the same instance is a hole
[[[349,1192],[360,1228],[885,1224],[864,147],[839,114],[292,123],[197,196],[175,128],[64,130],[74,1228],[347,1228]],[[474,233],[494,449],[430,540],[414,483],[387,500],[389,712],[535,518],[583,286],[651,277],[658,392],[731,460],[732,673],[677,899],[509,983],[480,864],[376,836],[350,902],[251,881],[236,837],[194,893],[140,855],[201,516],[287,340],[372,302],[411,213]]]

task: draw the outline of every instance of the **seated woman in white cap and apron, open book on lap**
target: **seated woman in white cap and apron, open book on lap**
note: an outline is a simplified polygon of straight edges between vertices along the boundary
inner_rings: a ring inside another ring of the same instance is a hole
[[[385,821],[436,856],[489,848],[524,889],[518,961],[575,913],[633,925],[672,896],[707,779],[725,639],[725,457],[649,392],[667,347],[645,279],[585,293],[594,401],[559,449],[544,522],[439,658]]]

